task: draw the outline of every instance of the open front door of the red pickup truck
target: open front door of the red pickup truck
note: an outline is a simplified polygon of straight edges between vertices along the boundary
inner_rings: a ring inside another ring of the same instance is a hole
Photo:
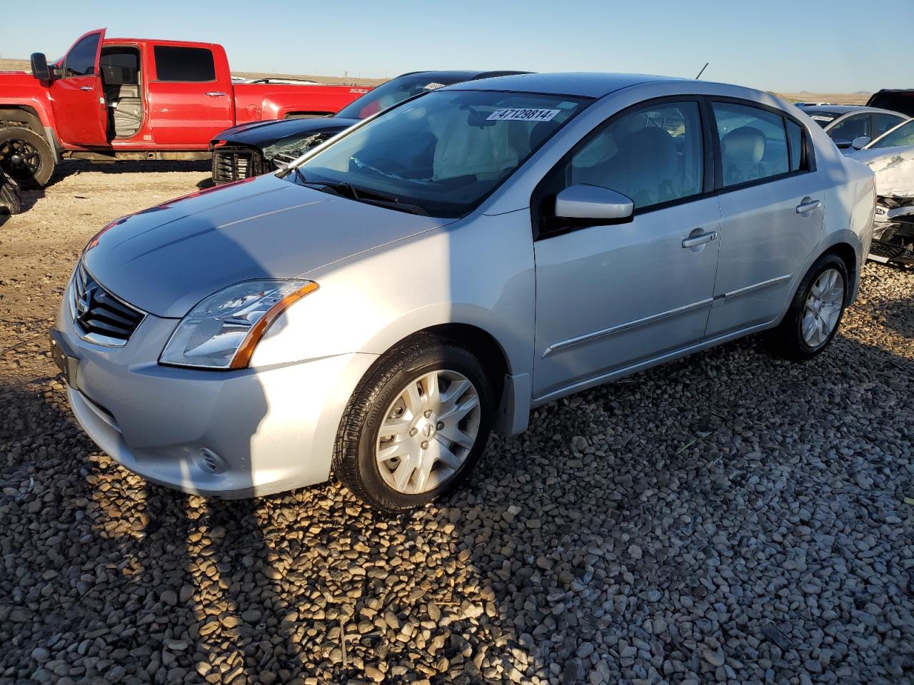
[[[105,29],[80,37],[58,64],[50,92],[60,142],[71,145],[108,144],[108,111],[101,89],[99,59]]]

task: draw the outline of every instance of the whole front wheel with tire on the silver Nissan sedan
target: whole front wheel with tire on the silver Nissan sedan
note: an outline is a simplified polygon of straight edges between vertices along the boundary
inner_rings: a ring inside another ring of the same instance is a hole
[[[479,359],[431,336],[382,357],[356,388],[336,438],[336,477],[379,511],[452,490],[485,448],[493,387]]]

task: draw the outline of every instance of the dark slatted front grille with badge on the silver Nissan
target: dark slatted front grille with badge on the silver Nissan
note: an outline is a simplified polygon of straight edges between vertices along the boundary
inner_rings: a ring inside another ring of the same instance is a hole
[[[70,311],[83,338],[103,345],[121,346],[130,340],[145,313],[118,300],[80,265],[73,274]]]

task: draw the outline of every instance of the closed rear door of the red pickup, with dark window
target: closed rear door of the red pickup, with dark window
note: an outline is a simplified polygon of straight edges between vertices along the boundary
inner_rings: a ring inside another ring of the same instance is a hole
[[[156,146],[206,149],[234,123],[231,77],[216,46],[154,44],[148,85]]]

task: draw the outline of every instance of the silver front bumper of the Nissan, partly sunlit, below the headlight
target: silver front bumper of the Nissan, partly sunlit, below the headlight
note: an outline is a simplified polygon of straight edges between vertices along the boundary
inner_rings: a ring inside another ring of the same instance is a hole
[[[65,293],[65,297],[67,293]],[[112,458],[176,490],[237,499],[329,477],[345,403],[376,359],[362,353],[216,372],[156,363],[177,320],[147,315],[122,347],[84,341],[58,314],[69,403]]]

